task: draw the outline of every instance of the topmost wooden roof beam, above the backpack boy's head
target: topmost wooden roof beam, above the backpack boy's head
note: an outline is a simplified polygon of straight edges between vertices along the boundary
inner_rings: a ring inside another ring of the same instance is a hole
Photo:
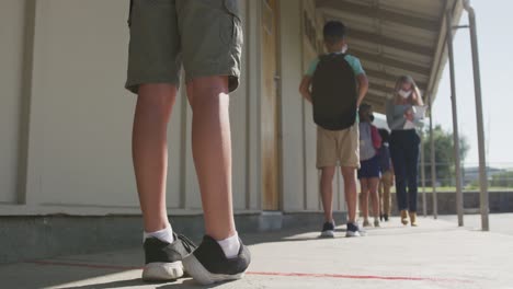
[[[438,20],[432,20],[426,18],[413,16],[406,13],[399,13],[390,10],[385,10],[376,7],[353,3],[345,0],[317,0],[317,8],[322,9],[323,12],[330,14],[338,10],[345,13],[358,14],[371,19],[379,19],[381,21],[389,21],[406,26],[411,26],[420,30],[426,30],[430,32],[440,31]],[[334,12],[337,13],[337,12]]]

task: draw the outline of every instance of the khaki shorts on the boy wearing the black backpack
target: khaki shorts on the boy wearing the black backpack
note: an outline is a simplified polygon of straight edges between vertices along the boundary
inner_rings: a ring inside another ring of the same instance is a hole
[[[317,127],[317,167],[350,166],[360,169],[358,124],[344,130]]]

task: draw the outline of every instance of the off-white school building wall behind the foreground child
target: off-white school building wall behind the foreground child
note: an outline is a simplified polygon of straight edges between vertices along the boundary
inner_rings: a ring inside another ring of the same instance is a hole
[[[241,0],[243,70],[230,103],[233,204],[259,213],[261,1]],[[278,1],[281,211],[318,212],[316,127],[298,93],[319,53],[306,35],[321,19],[310,0]],[[124,90],[126,0],[0,2],[0,216],[139,215],[130,154],[136,97]],[[183,86],[183,85],[182,85]],[[201,213],[191,153],[191,109],[179,92],[169,126],[167,201]],[[340,174],[335,210],[344,211]]]

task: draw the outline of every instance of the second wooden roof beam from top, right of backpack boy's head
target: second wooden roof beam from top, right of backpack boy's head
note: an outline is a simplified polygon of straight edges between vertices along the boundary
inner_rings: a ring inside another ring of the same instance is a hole
[[[390,47],[398,50],[404,50],[408,53],[413,53],[422,56],[432,57],[434,55],[434,49],[429,46],[418,45],[404,41],[394,39],[379,35],[377,33],[365,32],[361,30],[351,28],[347,31],[349,39],[357,39],[361,42],[371,43],[374,45],[381,45]]]

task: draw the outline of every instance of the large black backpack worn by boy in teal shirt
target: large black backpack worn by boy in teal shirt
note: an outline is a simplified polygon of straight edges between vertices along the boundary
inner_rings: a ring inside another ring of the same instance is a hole
[[[314,122],[329,130],[350,128],[356,122],[356,77],[345,54],[319,57],[311,82]]]

